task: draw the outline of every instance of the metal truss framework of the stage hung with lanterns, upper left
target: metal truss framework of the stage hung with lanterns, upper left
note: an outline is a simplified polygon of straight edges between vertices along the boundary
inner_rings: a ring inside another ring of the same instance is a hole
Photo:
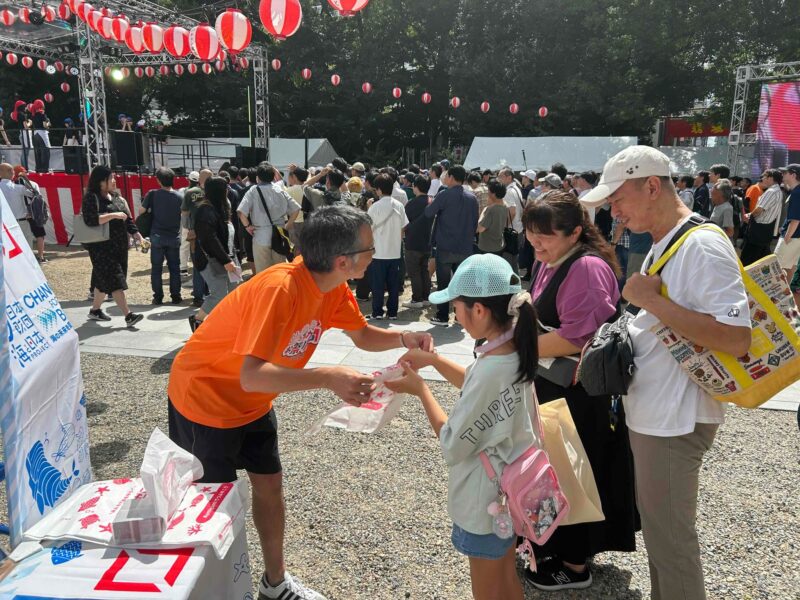
[[[150,0],[109,0],[104,6],[115,13],[122,13],[132,21],[159,21],[186,28],[200,22],[184,16]],[[66,27],[66,24],[64,24]],[[7,28],[6,31],[14,31]],[[104,40],[92,31],[86,23],[75,20],[72,29],[36,29],[26,26],[23,35],[15,37],[5,33],[0,35],[0,50],[15,52],[34,58],[69,61],[70,53],[75,52],[77,76],[80,89],[84,128],[86,134],[86,158],[90,166],[110,164],[108,144],[108,124],[106,115],[106,92],[103,73],[106,66],[146,66],[163,64],[190,64],[200,61],[193,57],[175,58],[166,52],[161,54],[134,54],[127,47],[116,42]],[[65,49],[69,48],[65,52]],[[122,49],[125,49],[122,52]],[[250,60],[254,78],[255,101],[255,139],[258,148],[266,148],[269,157],[269,62],[265,47],[251,45],[237,57]],[[74,60],[74,59],[73,59]],[[230,59],[229,59],[230,60]],[[231,60],[231,64],[233,64]]]

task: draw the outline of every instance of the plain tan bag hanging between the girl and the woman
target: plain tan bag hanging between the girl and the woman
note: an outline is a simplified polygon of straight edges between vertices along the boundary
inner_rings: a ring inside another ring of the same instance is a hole
[[[540,404],[539,416],[544,430],[544,450],[556,470],[561,491],[569,502],[569,513],[561,524],[603,521],[605,515],[592,465],[575,429],[567,401],[560,398]]]

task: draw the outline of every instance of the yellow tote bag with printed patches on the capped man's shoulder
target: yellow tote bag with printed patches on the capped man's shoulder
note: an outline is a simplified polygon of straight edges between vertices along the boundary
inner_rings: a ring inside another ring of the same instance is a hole
[[[650,267],[648,275],[657,273],[697,229],[712,229],[725,235],[716,225],[693,227]],[[786,276],[774,254],[747,268],[740,262],[739,268],[753,328],[747,354],[737,358],[724,352],[712,352],[682,337],[663,323],[654,326],[652,331],[689,378],[712,398],[744,408],[756,408],[800,379],[800,337],[792,326],[798,311]],[[661,293],[669,297],[666,287],[662,288]]]

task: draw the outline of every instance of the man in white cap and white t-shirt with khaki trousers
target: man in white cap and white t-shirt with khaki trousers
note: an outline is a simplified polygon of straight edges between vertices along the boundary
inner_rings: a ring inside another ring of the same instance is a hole
[[[692,216],[673,186],[669,158],[647,146],[631,146],[609,159],[598,186],[580,200],[587,207],[608,202],[622,226],[653,236],[645,271]],[[661,295],[664,284],[669,298]],[[698,479],[725,405],[689,379],[651,328],[660,321],[698,346],[746,354],[750,310],[736,253],[723,232],[695,231],[660,275],[635,273],[622,294],[641,309],[629,325],[636,374],[623,402],[651,597],[703,600]]]

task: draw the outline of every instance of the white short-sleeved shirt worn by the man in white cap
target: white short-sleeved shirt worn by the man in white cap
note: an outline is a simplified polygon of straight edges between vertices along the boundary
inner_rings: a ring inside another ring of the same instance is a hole
[[[645,258],[652,264],[664,253],[681,221]],[[692,233],[661,271],[670,299],[689,310],[709,314],[719,323],[750,327],[747,294],[733,246],[723,233]],[[696,423],[722,423],[725,404],[711,398],[678,365],[652,333],[658,319],[641,310],[628,331],[636,373],[623,398],[628,427],[644,435],[672,437],[694,431]]]

